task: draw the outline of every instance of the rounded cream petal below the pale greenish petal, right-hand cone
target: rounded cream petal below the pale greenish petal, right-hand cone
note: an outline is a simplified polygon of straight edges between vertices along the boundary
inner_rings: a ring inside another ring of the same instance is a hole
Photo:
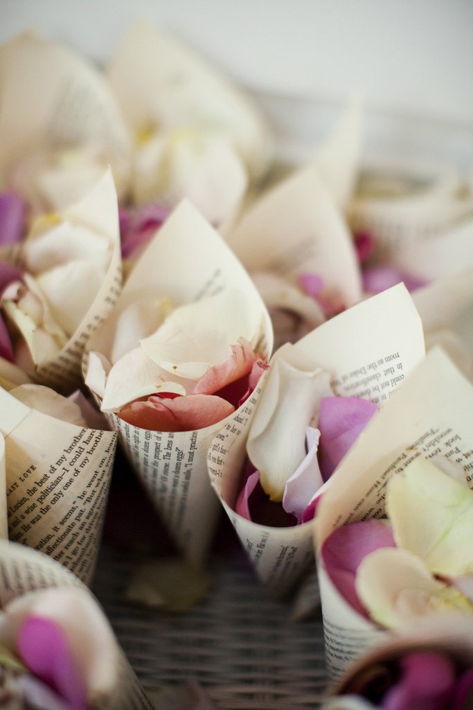
[[[432,613],[473,613],[455,587],[437,581],[419,557],[396,547],[375,550],[362,560],[356,589],[371,618],[388,628]]]

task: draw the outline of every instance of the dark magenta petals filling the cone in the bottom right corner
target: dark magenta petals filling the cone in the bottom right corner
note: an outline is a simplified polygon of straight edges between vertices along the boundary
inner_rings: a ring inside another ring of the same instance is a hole
[[[406,650],[366,665],[341,695],[347,704],[340,697],[333,701],[340,710],[468,710],[473,702],[473,667],[459,667],[441,650]]]

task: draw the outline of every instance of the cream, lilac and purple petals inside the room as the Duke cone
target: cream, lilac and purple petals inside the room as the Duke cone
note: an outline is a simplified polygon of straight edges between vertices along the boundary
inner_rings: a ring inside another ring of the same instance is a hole
[[[368,400],[334,396],[328,373],[299,368],[290,348],[271,364],[235,504],[243,518],[278,527],[313,518],[324,482],[377,412]]]

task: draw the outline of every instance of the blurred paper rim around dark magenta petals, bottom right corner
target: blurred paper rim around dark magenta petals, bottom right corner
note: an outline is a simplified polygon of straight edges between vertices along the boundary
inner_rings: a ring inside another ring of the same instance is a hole
[[[418,621],[413,628],[399,631],[350,665],[338,683],[328,691],[323,710],[372,710],[355,692],[360,679],[377,672],[384,664],[401,660],[415,651],[438,652],[456,667],[457,673],[473,666],[473,621],[468,616]],[[467,710],[467,706],[464,706]]]

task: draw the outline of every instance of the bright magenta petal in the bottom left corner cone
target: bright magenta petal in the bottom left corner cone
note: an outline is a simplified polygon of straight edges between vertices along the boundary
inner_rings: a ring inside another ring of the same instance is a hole
[[[48,618],[28,616],[16,643],[30,671],[67,700],[71,710],[87,710],[84,683],[59,626]]]

